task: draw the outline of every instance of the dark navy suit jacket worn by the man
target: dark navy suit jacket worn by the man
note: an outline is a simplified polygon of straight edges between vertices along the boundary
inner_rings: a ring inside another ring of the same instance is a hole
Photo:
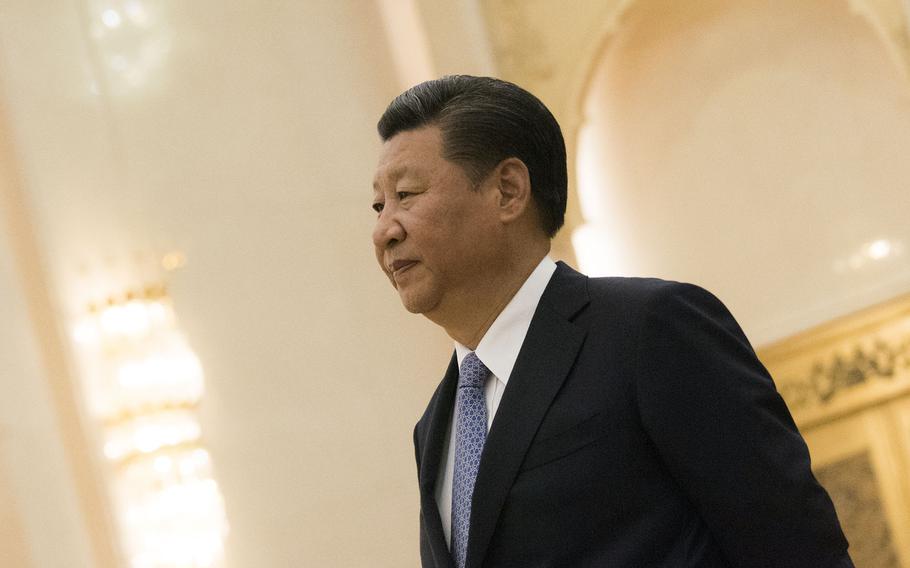
[[[425,567],[455,357],[414,430]],[[468,568],[852,567],[771,377],[714,296],[563,263],[481,457]]]

